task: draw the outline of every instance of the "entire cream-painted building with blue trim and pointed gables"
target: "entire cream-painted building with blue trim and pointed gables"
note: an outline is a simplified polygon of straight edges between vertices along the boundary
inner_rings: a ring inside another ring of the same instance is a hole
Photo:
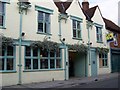
[[[106,33],[99,7],[86,0],[1,0],[2,86],[110,73]]]

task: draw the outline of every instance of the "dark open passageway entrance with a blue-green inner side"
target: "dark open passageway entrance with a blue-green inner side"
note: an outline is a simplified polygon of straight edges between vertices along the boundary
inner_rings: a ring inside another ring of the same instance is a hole
[[[86,55],[84,53],[69,52],[69,77],[86,76]]]

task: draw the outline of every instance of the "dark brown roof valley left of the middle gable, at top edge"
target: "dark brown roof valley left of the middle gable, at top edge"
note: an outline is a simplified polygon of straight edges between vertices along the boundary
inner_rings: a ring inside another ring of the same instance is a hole
[[[67,2],[61,2],[60,0],[53,0],[60,13],[66,14],[66,10],[70,7],[73,0],[68,0]]]

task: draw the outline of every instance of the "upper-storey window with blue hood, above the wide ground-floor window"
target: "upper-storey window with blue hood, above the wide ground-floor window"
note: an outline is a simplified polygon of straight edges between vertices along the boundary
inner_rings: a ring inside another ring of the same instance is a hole
[[[40,7],[40,6],[35,6],[35,9],[38,11],[38,17],[37,17],[38,28],[37,28],[37,32],[40,33],[40,34],[51,34],[50,16],[51,16],[51,14],[53,14],[53,10],[47,9],[47,8],[44,8],[44,7]]]

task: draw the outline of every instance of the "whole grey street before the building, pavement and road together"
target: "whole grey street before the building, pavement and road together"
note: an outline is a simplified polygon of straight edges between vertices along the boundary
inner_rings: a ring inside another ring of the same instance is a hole
[[[111,73],[106,75],[99,75],[97,77],[86,77],[86,78],[71,78],[67,81],[51,81],[44,83],[31,83],[31,84],[23,84],[23,85],[13,85],[3,87],[3,90],[13,90],[13,89],[51,89],[51,90],[59,90],[59,89],[79,89],[79,88],[118,88],[119,80],[118,73]]]

